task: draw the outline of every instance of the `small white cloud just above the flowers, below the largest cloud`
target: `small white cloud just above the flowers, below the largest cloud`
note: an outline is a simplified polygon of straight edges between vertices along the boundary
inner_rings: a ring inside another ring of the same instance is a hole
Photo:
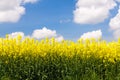
[[[101,30],[96,30],[96,31],[84,33],[80,38],[85,40],[85,39],[90,39],[90,38],[99,39],[101,37],[102,37]]]

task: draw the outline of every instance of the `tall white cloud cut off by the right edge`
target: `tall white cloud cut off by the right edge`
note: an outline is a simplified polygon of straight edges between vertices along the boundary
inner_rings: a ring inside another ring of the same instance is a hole
[[[118,10],[117,15],[110,20],[109,26],[113,31],[114,38],[120,38],[120,9]]]

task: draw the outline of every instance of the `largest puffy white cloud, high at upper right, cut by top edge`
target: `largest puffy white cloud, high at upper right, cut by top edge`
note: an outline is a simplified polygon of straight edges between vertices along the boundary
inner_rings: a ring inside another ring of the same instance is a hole
[[[96,24],[108,18],[110,10],[116,6],[114,0],[78,0],[74,10],[74,22]]]

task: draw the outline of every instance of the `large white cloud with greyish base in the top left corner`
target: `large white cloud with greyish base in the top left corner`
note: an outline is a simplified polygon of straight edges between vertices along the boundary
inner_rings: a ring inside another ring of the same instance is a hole
[[[0,22],[17,22],[25,14],[23,4],[37,0],[0,0]]]

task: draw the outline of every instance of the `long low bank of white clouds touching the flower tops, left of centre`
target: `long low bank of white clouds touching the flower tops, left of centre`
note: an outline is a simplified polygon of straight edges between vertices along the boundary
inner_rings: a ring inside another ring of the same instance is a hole
[[[50,29],[47,29],[46,27],[43,27],[42,29],[34,30],[32,35],[25,35],[24,32],[13,32],[8,35],[9,35],[9,38],[17,38],[17,36],[20,35],[22,39],[24,39],[25,37],[29,37],[29,38],[41,40],[45,38],[54,37],[55,40],[59,42],[64,40],[64,37],[62,35],[59,35],[56,33],[55,30],[50,30]]]

